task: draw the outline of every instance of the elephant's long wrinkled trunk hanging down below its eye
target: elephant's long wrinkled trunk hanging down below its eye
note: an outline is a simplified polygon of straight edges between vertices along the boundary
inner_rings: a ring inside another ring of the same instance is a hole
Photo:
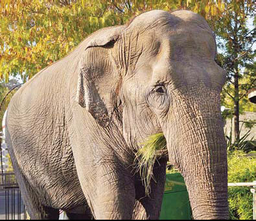
[[[170,162],[177,165],[189,191],[195,219],[225,219],[227,209],[227,153],[220,114],[220,93],[194,90],[173,101],[167,135]]]

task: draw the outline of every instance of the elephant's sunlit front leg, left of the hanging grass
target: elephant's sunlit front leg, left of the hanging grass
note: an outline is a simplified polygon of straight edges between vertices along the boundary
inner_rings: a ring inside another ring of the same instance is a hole
[[[95,219],[132,219],[135,204],[134,180],[121,167],[119,165],[117,169],[113,164],[105,163],[94,171],[95,180],[82,182],[86,184],[83,190]]]

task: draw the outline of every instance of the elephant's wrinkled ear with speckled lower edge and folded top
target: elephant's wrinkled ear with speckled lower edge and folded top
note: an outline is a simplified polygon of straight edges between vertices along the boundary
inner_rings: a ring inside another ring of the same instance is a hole
[[[110,123],[120,82],[113,52],[121,31],[122,26],[104,28],[89,36],[80,61],[76,101],[102,127]]]

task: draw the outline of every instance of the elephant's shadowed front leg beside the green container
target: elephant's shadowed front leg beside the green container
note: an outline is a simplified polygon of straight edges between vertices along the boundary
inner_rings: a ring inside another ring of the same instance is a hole
[[[137,217],[141,217],[141,215],[146,212],[146,219],[159,219],[165,189],[166,165],[167,160],[165,159],[160,159],[155,163],[153,169],[154,180],[151,180],[150,183],[150,196],[145,196],[145,187],[141,181],[137,179],[137,182],[135,183],[136,199],[139,200],[144,207],[144,211],[140,208],[141,214],[138,214]],[[139,174],[137,174],[137,176],[139,176]]]

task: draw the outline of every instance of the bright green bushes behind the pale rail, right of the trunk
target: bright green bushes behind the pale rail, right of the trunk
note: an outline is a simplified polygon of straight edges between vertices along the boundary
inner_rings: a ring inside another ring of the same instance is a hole
[[[251,152],[253,153],[253,152]],[[254,152],[255,153],[255,152]],[[256,179],[256,158],[242,151],[228,154],[228,182],[253,182]],[[231,219],[252,220],[250,187],[229,187],[229,213]]]

